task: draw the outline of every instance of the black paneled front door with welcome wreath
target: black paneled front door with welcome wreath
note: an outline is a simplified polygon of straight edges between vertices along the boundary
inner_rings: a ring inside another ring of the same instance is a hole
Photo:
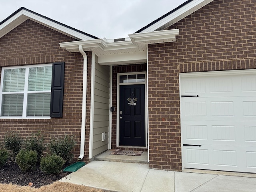
[[[119,145],[146,146],[145,85],[120,85],[119,106]]]

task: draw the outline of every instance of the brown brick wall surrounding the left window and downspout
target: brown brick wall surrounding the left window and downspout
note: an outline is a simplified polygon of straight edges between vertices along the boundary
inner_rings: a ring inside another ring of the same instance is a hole
[[[80,134],[82,116],[83,57],[80,53],[69,53],[60,48],[60,42],[76,41],[64,34],[42,26],[31,20],[17,26],[0,38],[0,67],[65,62],[63,117],[42,119],[0,119],[0,141],[6,132],[18,132],[29,136],[41,131],[46,142],[50,137],[74,135],[77,144],[75,158],[80,154]],[[90,114],[90,70],[91,53],[88,52],[88,92],[86,110],[86,142],[89,147]],[[85,153],[88,161],[88,151]]]

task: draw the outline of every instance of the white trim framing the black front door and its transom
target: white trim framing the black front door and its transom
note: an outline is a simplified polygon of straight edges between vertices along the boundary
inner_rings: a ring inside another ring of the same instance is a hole
[[[119,83],[119,78],[120,75],[133,75],[133,74],[145,74],[145,82],[132,82],[132,83]],[[147,103],[148,103],[148,98],[147,98],[147,90],[148,90],[148,86],[147,86],[147,72],[146,71],[142,71],[142,72],[128,72],[128,73],[118,73],[117,74],[117,93],[116,93],[116,147],[119,147],[119,111],[120,111],[120,106],[119,106],[119,102],[120,102],[120,85],[136,85],[136,84],[144,84],[145,85],[145,147],[140,147],[140,148],[147,148],[148,147],[148,110],[147,110]],[[137,146],[126,146],[126,147],[137,147]]]

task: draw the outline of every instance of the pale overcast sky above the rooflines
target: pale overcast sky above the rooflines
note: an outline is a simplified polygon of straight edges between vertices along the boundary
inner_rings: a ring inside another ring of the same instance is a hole
[[[124,38],[186,0],[1,0],[0,21],[20,7],[94,35]]]

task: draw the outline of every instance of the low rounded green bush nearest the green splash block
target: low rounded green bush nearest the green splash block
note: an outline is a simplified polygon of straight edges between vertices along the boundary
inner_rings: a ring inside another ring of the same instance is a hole
[[[62,157],[52,154],[41,159],[40,169],[46,174],[56,174],[61,172],[64,164]]]

